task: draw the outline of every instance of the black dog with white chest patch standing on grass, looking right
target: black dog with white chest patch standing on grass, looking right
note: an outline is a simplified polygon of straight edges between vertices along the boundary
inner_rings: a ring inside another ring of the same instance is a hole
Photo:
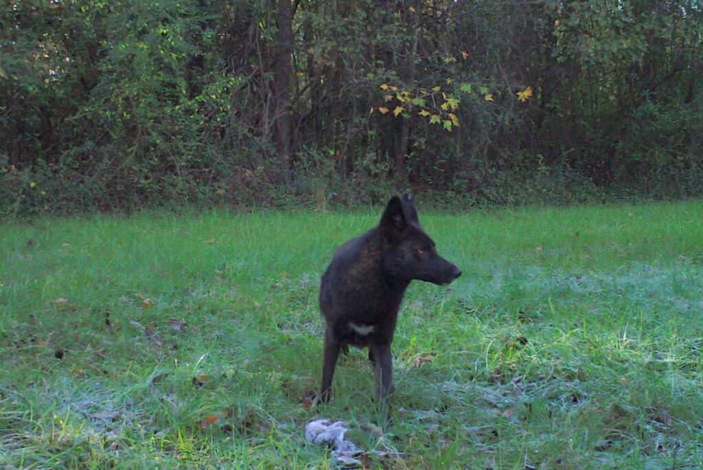
[[[337,356],[347,345],[368,346],[379,400],[392,393],[391,343],[408,284],[420,279],[446,285],[460,275],[437,254],[410,196],[394,196],[378,227],[340,246],[322,276],[320,307],[327,328],[321,399],[329,400]]]

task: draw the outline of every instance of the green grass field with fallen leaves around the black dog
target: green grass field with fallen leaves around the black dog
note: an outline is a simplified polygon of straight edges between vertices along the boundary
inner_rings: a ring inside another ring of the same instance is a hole
[[[408,290],[391,426],[359,350],[309,406],[319,276],[379,218],[0,225],[0,466],[333,467],[329,417],[372,467],[703,467],[703,203],[420,207],[464,274]]]

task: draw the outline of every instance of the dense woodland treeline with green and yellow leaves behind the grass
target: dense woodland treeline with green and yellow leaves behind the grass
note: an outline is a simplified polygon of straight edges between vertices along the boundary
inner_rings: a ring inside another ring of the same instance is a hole
[[[3,213],[698,196],[689,0],[10,0]]]

